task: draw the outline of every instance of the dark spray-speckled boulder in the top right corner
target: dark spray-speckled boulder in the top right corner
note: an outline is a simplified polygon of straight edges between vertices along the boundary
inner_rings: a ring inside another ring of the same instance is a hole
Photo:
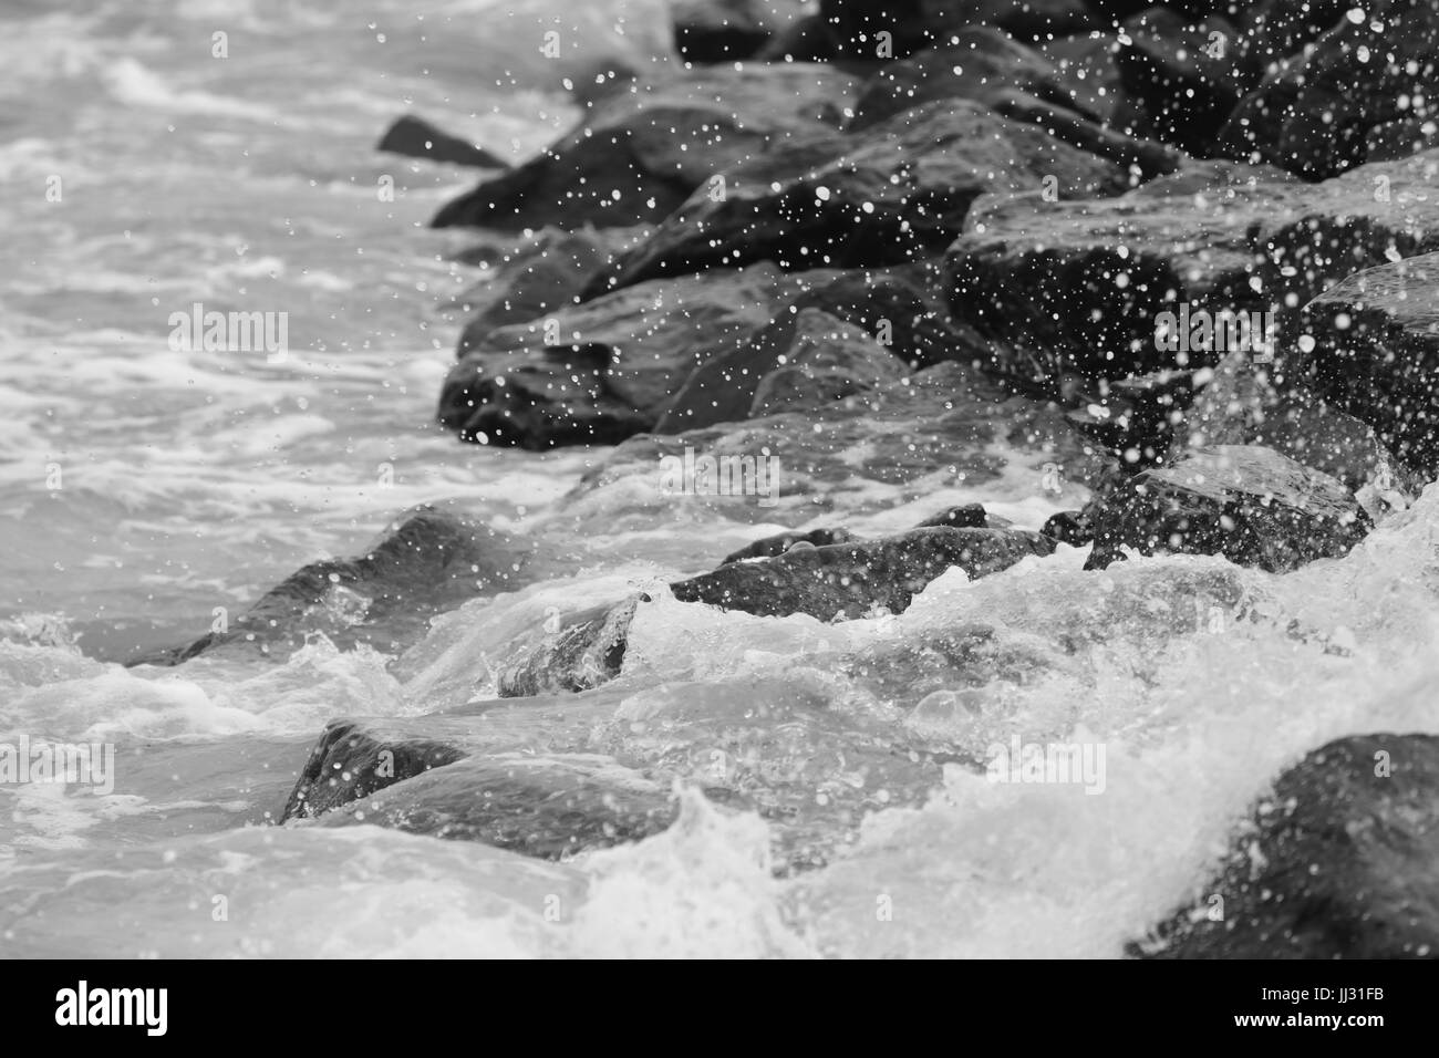
[[[1235,108],[1220,134],[1229,157],[1333,177],[1368,160],[1373,130],[1412,117],[1409,99],[1435,95],[1439,9],[1379,0],[1353,10]]]

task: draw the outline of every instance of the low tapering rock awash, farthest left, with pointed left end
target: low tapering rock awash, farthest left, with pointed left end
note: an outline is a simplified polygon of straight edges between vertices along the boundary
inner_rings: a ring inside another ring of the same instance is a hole
[[[530,548],[504,533],[422,507],[363,557],[311,563],[223,630],[131,664],[178,665],[213,651],[283,659],[315,632],[341,649],[367,643],[397,652],[425,635],[437,613],[528,583],[530,559]]]

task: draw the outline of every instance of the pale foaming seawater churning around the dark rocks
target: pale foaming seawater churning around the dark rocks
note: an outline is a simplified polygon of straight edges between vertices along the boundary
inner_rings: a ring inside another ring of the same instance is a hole
[[[112,792],[0,785],[0,951],[1112,957],[1202,895],[1284,766],[1348,733],[1439,731],[1432,491],[1282,577],[1202,557],[1084,573],[1061,547],[840,625],[666,597],[781,527],[878,534],[980,501],[1038,528],[1084,494],[1014,459],[974,485],[832,488],[813,517],[813,495],[735,512],[655,475],[581,487],[603,451],[437,430],[482,272],[423,225],[473,176],[374,141],[413,111],[518,158],[573,111],[535,46],[545,7],[417,7],[0,14],[0,741],[117,747]],[[659,10],[596,6],[596,55],[662,50]],[[288,312],[289,356],[176,351],[170,314],[193,302]],[[578,571],[468,603],[399,658],[314,636],[279,662],[119,664],[420,502]],[[495,710],[494,740],[672,787],[669,831],[545,862],[273,825],[328,720],[492,698],[515,629],[636,589],[653,605],[622,675]],[[1014,736],[1102,744],[1102,795],[966,766]],[[741,806],[699,792],[715,785]]]

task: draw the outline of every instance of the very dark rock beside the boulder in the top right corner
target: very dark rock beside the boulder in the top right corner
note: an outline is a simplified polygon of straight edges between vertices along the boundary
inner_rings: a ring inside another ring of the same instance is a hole
[[[1189,22],[1167,7],[1124,23],[1115,62],[1125,95],[1140,108],[1135,131],[1197,157],[1215,154],[1219,130],[1261,73],[1229,22]]]

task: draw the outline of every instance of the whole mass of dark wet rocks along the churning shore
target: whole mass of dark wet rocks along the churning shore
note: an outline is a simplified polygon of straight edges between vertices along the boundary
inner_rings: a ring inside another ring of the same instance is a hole
[[[1132,556],[1286,574],[1348,554],[1439,476],[1439,9],[1356,12],[676,4],[686,69],[616,79],[580,127],[435,217],[492,239],[472,255],[492,266],[437,415],[465,442],[591,446],[574,505],[627,482],[652,491],[666,459],[734,459],[753,476],[778,458],[786,495],[725,517],[806,528],[701,557],[663,593],[514,629],[498,700],[337,720],[283,818],[551,859],[663,831],[673,772],[617,763],[591,731],[622,701],[609,684],[632,622],[658,606],[837,628],[904,615],[951,570],[973,582],[1062,547],[1091,548],[1089,577]],[[387,150],[492,161],[401,131],[409,145],[391,135]],[[1164,314],[1199,322],[1166,334]],[[1238,317],[1262,320],[1261,337],[1226,348],[1217,328]],[[1042,531],[974,505],[873,538],[823,524],[829,495],[866,479],[922,495],[935,474],[1029,474],[1036,494],[1059,492],[1059,475],[1085,501]],[[650,502],[636,499],[637,523]],[[368,554],[301,570],[235,630],[147,661],[283,656],[317,629],[399,654],[436,615],[584,564],[548,543],[414,512]],[[1206,597],[1265,619],[1222,580]],[[337,586],[363,612],[317,623],[342,609]],[[1179,612],[1196,594],[1154,590]],[[1033,633],[1050,632],[1069,635]],[[909,656],[868,649],[836,664],[882,682]],[[945,643],[920,708],[963,708],[955,694],[1022,649],[993,629]],[[561,730],[550,756],[527,759],[505,717],[574,695],[584,710],[564,723],[589,734]],[[797,715],[789,737],[814,753],[843,724]],[[945,766],[984,769],[911,736],[866,720],[845,733],[859,743],[849,761],[908,754],[915,790]],[[1386,731],[1312,747],[1196,880],[1197,903],[1137,923],[1128,954],[1439,953],[1433,741]],[[802,872],[836,849],[812,820],[790,826],[787,805],[810,793],[791,786],[721,774],[702,789],[764,816],[776,869]],[[832,815],[865,810],[833,799]]]

